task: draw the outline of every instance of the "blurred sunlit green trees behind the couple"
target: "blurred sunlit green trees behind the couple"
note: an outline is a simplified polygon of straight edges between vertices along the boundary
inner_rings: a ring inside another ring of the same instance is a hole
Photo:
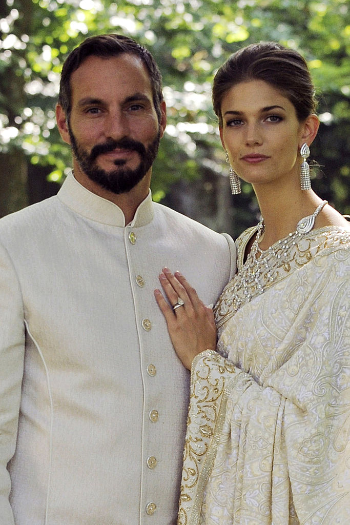
[[[168,125],[153,169],[155,201],[233,237],[257,223],[251,187],[230,194],[211,81],[240,47],[274,40],[301,52],[316,85],[312,186],[350,214],[348,0],[2,0],[0,216],[57,193],[71,166],[55,123],[62,62],[101,33],[131,36],[162,71]]]

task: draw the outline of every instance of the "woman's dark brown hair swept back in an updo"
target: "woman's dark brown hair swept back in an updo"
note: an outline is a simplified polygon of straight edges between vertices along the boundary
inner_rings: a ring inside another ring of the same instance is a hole
[[[278,89],[292,102],[300,122],[315,112],[315,89],[305,59],[294,49],[260,42],[232,54],[214,77],[213,106],[220,127],[225,93],[239,82],[250,80],[264,80]]]

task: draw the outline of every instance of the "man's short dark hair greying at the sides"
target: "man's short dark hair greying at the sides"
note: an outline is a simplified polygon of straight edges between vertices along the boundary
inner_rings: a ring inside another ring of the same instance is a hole
[[[153,103],[158,121],[161,119],[162,75],[150,51],[132,38],[123,35],[99,35],[88,37],[80,46],[73,49],[63,64],[60,80],[58,103],[66,113],[67,120],[71,112],[70,77],[76,69],[90,56],[110,58],[129,53],[141,58],[149,73],[152,87]]]

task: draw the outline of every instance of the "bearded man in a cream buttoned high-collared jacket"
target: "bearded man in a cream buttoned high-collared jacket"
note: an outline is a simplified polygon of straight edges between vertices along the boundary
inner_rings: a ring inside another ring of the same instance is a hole
[[[134,40],[73,50],[56,113],[73,172],[0,221],[0,524],[173,524],[189,378],[153,290],[181,268],[215,302],[235,247],[152,203],[166,108]]]

